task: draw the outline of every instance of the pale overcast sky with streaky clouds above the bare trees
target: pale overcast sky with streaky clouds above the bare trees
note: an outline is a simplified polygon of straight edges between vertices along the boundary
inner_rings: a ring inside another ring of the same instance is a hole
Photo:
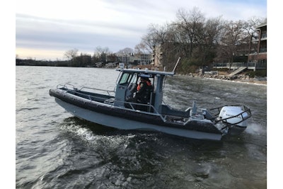
[[[178,9],[194,7],[206,18],[267,17],[267,0],[16,0],[16,55],[54,60],[74,48],[134,49],[149,24],[171,23]]]

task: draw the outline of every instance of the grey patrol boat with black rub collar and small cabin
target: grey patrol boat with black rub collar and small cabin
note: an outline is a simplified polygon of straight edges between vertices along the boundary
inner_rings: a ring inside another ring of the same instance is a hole
[[[50,96],[72,115],[121,130],[155,130],[192,139],[221,140],[226,134],[240,134],[248,125],[250,108],[246,105],[225,105],[212,109],[199,108],[195,101],[186,110],[177,110],[163,103],[163,84],[173,71],[148,69],[116,69],[120,71],[114,91],[99,88],[76,88],[59,84],[50,89]],[[134,99],[140,77],[153,82],[149,101]]]

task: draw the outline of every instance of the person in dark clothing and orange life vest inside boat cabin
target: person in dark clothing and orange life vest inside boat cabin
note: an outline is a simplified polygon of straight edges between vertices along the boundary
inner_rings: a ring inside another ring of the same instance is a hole
[[[154,87],[152,86],[149,78],[141,77],[135,96],[137,103],[148,103],[150,100],[151,92],[153,91]]]

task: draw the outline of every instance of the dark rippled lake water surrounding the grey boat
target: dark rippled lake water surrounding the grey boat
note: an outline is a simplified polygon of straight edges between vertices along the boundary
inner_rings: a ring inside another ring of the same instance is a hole
[[[267,86],[173,76],[164,101],[186,109],[243,103],[248,128],[221,142],[115,130],[79,120],[57,84],[113,90],[114,69],[16,67],[16,188],[267,188]]]

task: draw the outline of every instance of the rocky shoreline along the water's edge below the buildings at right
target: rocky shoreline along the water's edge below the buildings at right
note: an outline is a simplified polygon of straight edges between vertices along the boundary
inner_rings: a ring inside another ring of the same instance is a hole
[[[267,77],[255,77],[250,78],[250,76],[246,74],[238,74],[234,76],[229,75],[219,75],[219,74],[187,74],[190,77],[197,77],[197,78],[207,78],[207,79],[219,79],[225,81],[236,81],[236,82],[243,82],[243,83],[250,83],[250,84],[262,84],[267,85]]]

